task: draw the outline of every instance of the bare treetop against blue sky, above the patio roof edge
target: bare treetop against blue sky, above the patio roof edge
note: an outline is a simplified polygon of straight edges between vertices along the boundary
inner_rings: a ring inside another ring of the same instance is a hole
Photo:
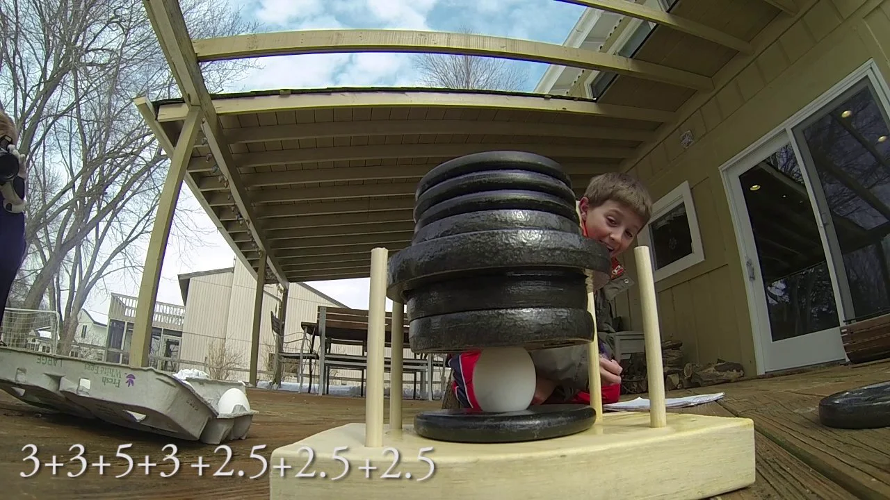
[[[474,35],[469,28],[458,33]],[[447,89],[518,91],[526,74],[514,60],[463,54],[417,54],[414,67],[422,85]]]

